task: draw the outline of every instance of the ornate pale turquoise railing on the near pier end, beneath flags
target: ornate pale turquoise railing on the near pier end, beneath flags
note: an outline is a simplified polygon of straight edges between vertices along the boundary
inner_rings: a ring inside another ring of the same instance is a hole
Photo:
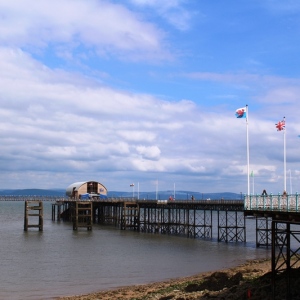
[[[300,197],[294,195],[246,195],[245,210],[300,212]]]

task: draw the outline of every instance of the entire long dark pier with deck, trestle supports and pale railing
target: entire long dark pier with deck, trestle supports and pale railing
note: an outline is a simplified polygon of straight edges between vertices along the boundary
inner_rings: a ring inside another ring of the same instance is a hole
[[[257,247],[271,247],[273,220],[300,222],[298,194],[250,195],[243,200],[194,201],[139,200],[133,197],[80,201],[69,197],[0,196],[0,201],[50,201],[52,220],[69,221],[73,223],[74,230],[80,227],[91,230],[93,224],[99,224],[121,230],[217,238],[220,242],[246,242],[245,220],[252,218],[256,222]],[[81,208],[76,209],[79,201],[92,203],[90,212],[83,210],[85,217],[79,213]],[[216,237],[212,236],[213,213],[217,214]]]

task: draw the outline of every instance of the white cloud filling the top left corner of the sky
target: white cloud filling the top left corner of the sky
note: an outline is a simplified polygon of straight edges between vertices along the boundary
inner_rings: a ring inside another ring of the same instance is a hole
[[[169,56],[162,48],[163,32],[119,4],[17,0],[0,2],[0,11],[0,43],[13,47],[54,47],[65,57],[79,56],[82,50],[104,56],[126,53],[135,59]]]

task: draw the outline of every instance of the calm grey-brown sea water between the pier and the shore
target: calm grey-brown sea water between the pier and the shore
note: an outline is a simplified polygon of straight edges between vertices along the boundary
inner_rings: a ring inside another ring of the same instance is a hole
[[[44,231],[24,232],[24,202],[0,202],[0,299],[54,299],[270,257],[270,249],[255,248],[254,222],[247,220],[247,243],[229,244],[103,226],[73,231],[51,220],[45,202]]]

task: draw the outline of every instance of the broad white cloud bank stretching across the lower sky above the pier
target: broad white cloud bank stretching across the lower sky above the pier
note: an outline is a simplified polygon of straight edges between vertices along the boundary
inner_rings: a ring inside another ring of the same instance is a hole
[[[25,176],[31,182],[36,175],[29,174],[47,170],[69,174],[59,177],[60,186],[67,186],[87,176],[83,172],[120,180],[126,171],[243,182],[245,124],[234,112],[114,90],[51,70],[20,50],[1,49],[0,58],[2,177]],[[251,163],[264,184],[278,178],[282,141],[269,120],[258,120],[257,114],[250,120]],[[289,122],[296,134],[300,127]]]

